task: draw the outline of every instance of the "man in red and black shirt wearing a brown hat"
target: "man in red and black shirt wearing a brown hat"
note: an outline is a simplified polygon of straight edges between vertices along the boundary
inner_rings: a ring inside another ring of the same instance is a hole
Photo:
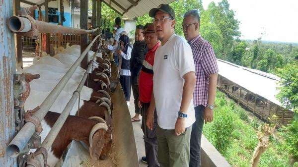
[[[148,53],[143,61],[143,66],[139,76],[139,104],[141,108],[142,117],[142,129],[144,132],[145,141],[145,151],[146,157],[142,157],[142,161],[147,161],[148,167],[159,167],[157,162],[157,138],[156,138],[156,128],[157,128],[157,114],[154,111],[154,127],[150,130],[146,126],[147,119],[147,109],[150,105],[151,94],[153,90],[153,63],[154,55],[160,43],[157,40],[157,36],[154,32],[154,26],[149,23],[147,29],[143,32],[145,35],[145,41],[148,47]],[[146,160],[147,158],[147,160]]]

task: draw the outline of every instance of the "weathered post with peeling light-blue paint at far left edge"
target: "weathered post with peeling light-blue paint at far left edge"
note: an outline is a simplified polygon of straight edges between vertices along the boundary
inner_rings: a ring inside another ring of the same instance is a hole
[[[0,166],[16,167],[16,159],[5,152],[15,134],[13,105],[13,74],[15,73],[14,36],[5,20],[13,15],[13,1],[0,0]]]

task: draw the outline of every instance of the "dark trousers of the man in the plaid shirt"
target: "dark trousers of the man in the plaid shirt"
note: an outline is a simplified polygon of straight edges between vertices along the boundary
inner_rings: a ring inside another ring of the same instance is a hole
[[[201,167],[201,138],[204,126],[204,109],[200,105],[195,107],[196,122],[192,125],[190,136],[190,161],[189,167]]]

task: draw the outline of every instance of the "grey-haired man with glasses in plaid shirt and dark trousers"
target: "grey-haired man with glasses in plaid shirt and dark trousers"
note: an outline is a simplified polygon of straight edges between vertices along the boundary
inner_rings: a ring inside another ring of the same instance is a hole
[[[192,125],[189,167],[200,167],[202,130],[204,120],[205,123],[213,121],[219,69],[212,46],[200,35],[198,10],[190,10],[184,14],[182,27],[192,49],[197,78],[194,90],[196,122]]]

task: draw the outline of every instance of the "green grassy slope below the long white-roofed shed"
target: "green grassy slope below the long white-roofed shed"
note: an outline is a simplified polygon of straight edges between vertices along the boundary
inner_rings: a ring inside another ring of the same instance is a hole
[[[250,122],[247,112],[220,91],[217,91],[215,106],[214,121],[204,126],[204,135],[232,167],[249,167],[261,123],[257,118]],[[285,143],[270,138],[259,167],[290,167]]]

